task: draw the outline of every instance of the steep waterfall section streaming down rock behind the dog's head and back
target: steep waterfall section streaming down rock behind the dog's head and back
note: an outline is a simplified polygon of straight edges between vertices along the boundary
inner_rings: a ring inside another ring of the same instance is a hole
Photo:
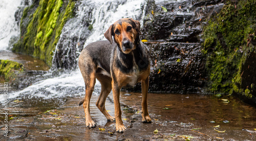
[[[91,42],[105,40],[104,32],[120,18],[141,20],[143,0],[98,0],[78,2],[76,16],[62,29],[53,56],[53,69],[77,67],[81,50]]]

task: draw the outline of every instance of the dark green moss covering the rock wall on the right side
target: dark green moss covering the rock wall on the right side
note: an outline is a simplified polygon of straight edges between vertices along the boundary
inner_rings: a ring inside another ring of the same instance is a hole
[[[207,59],[209,91],[242,92],[242,66],[248,53],[249,34],[256,25],[256,1],[227,1],[217,17],[212,17],[204,29],[203,53]]]

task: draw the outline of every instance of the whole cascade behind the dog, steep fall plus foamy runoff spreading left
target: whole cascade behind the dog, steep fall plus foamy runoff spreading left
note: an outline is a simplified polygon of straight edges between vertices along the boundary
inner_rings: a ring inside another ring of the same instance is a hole
[[[53,67],[61,65],[77,68],[80,51],[90,42],[103,40],[104,32],[120,18],[142,19],[145,2],[130,1],[81,1],[77,2],[77,14],[62,29],[53,57]],[[92,29],[89,27],[92,25]],[[61,55],[60,55],[61,54]],[[61,57],[62,56],[62,57]],[[71,65],[71,66],[70,66]],[[96,82],[95,93],[99,93],[100,84]],[[21,91],[12,92],[9,98],[43,97],[46,99],[84,95],[84,82],[79,69],[59,77],[41,80]],[[0,95],[0,101],[3,100]]]

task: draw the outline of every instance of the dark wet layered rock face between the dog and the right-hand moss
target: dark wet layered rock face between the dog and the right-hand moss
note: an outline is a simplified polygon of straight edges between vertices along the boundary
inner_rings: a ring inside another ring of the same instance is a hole
[[[221,1],[147,1],[142,39],[150,53],[151,92],[205,92],[205,59],[200,42],[206,19]],[[157,41],[157,42],[155,42]],[[140,85],[128,90],[140,90]]]

